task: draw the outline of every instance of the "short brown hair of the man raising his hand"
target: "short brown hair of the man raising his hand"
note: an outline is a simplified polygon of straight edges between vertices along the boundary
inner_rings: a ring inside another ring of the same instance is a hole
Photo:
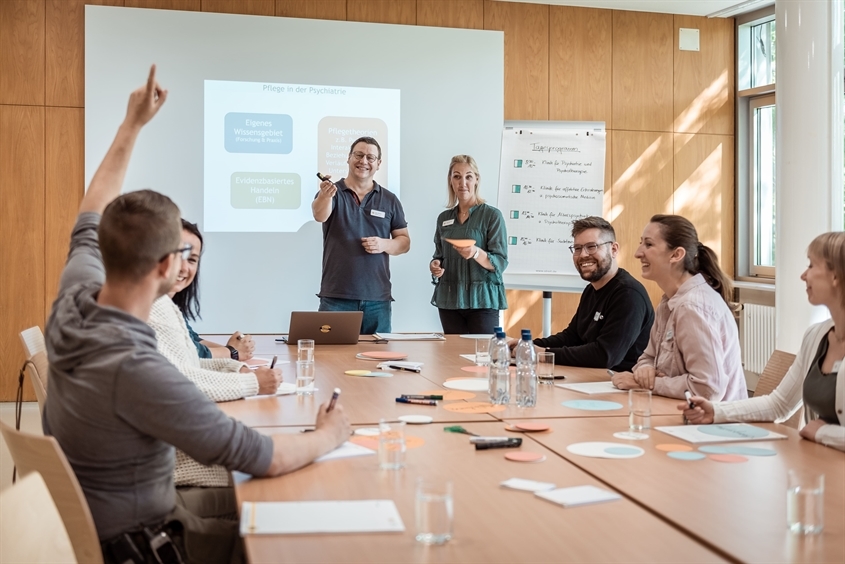
[[[152,190],[123,194],[106,207],[97,233],[106,277],[137,280],[179,246],[179,208]]]

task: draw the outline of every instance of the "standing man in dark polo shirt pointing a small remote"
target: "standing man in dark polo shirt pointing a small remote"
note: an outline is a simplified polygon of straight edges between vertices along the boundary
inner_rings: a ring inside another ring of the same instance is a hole
[[[363,311],[361,334],[390,332],[390,262],[411,248],[402,204],[373,180],[381,147],[361,137],[349,150],[349,173],[324,180],[311,204],[323,224],[320,311]],[[329,178],[329,177],[326,177]]]

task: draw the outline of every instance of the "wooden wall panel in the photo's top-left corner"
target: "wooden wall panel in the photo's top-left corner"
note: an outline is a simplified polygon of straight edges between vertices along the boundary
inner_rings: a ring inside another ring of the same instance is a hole
[[[0,2],[0,104],[44,105],[44,0]]]

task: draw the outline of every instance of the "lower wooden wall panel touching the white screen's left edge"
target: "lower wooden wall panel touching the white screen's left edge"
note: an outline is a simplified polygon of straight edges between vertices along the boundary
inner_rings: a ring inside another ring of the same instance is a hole
[[[47,108],[45,148],[45,317],[67,259],[70,232],[85,193],[85,110]]]

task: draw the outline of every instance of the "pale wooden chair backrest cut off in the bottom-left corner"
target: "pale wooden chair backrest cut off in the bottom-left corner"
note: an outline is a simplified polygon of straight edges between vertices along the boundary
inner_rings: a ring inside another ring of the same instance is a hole
[[[44,478],[30,472],[0,493],[0,562],[78,562]]]

